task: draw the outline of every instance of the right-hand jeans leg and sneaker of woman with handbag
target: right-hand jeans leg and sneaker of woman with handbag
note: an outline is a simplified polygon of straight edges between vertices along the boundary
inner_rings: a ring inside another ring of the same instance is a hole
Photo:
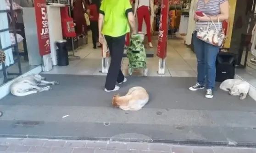
[[[213,89],[215,87],[216,77],[216,58],[219,53],[219,47],[205,43],[205,62],[206,62],[206,98],[213,97]]]

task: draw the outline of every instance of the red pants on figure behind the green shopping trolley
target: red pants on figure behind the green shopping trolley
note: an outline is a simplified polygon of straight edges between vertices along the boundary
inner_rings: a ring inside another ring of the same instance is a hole
[[[137,9],[137,17],[138,17],[138,32],[142,31],[142,23],[143,19],[145,20],[147,26],[147,36],[148,42],[151,42],[151,27],[150,27],[150,12],[148,6],[140,6]]]

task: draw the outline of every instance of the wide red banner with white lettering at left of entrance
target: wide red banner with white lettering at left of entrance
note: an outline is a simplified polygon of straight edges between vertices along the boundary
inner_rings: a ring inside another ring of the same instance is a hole
[[[46,0],[34,0],[39,53],[41,56],[50,53],[50,37]]]

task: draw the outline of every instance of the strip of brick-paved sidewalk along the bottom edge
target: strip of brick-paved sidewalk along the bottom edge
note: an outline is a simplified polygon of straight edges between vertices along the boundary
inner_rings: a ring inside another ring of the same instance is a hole
[[[0,153],[256,153],[256,148],[0,138]]]

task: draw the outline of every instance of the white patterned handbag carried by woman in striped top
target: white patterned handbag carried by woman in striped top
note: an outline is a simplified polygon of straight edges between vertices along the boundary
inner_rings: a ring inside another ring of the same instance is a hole
[[[214,22],[211,20],[211,25],[209,26],[209,22],[207,23],[207,26],[201,26],[198,30],[196,37],[204,42],[210,43],[214,46],[221,46],[223,44],[223,40],[225,38],[225,34],[220,29],[220,21],[218,19],[218,29]],[[214,25],[215,29],[211,29],[211,26]]]

